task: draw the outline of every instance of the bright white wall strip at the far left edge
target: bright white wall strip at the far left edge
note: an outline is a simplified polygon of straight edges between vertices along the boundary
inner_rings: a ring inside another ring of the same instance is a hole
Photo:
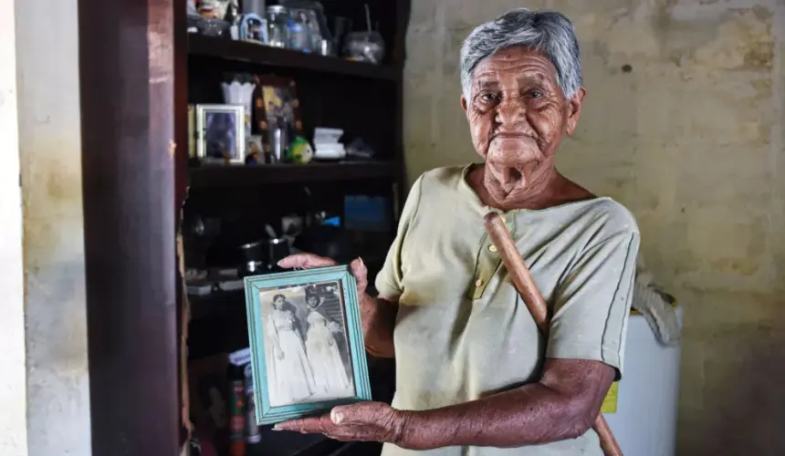
[[[13,11],[14,0],[0,0]],[[16,112],[14,15],[0,15],[0,454],[25,456],[25,289]]]

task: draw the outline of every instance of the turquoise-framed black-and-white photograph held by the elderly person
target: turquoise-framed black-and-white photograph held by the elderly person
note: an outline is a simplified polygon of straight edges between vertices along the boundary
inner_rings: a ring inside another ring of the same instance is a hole
[[[256,422],[371,400],[349,266],[245,278]]]

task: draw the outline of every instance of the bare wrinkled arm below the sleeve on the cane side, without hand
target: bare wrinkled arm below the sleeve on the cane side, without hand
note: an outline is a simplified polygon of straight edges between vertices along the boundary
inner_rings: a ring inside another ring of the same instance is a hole
[[[442,409],[400,411],[399,445],[524,445],[575,439],[591,428],[615,369],[599,361],[548,359],[538,383]]]

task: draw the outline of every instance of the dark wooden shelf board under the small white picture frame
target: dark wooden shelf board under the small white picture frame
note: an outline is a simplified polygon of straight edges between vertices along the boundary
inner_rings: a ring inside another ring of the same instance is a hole
[[[200,187],[255,187],[273,183],[362,181],[393,178],[390,161],[309,163],[305,165],[200,166],[188,171],[189,185]]]

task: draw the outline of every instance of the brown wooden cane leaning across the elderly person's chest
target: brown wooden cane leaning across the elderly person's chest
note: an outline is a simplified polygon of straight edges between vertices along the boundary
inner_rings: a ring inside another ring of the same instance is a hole
[[[496,245],[501,261],[507,268],[518,294],[529,308],[539,330],[547,338],[550,328],[548,305],[539,293],[534,279],[531,278],[529,267],[526,266],[523,257],[518,252],[518,247],[509,235],[507,226],[497,212],[488,212],[485,216],[485,227],[491,242]],[[623,456],[622,449],[619,448],[619,443],[613,437],[611,428],[602,417],[602,413],[597,415],[597,420],[594,421],[594,431],[600,437],[600,447],[605,456]]]

